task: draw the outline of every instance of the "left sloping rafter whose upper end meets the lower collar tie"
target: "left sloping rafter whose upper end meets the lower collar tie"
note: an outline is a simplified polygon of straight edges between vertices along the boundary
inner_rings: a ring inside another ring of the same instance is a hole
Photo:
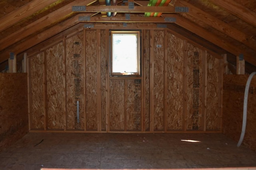
[[[81,14],[79,14],[79,15],[81,15]],[[27,49],[33,47],[34,45],[37,45],[37,44],[41,43],[42,41],[66,30],[70,27],[72,30],[75,30],[78,28],[80,29],[82,27],[82,23],[81,24],[78,24],[78,23],[79,23],[79,21],[77,20],[76,16],[74,16],[71,19],[68,19],[62,23],[58,23],[57,25],[50,27],[46,31],[39,33],[39,34],[35,35],[34,37],[25,39],[25,41],[23,41],[22,43],[20,43],[18,45],[14,44],[9,48],[4,49],[3,51],[0,51],[0,56],[1,56],[0,63],[8,60],[10,52],[14,52],[15,54],[22,53],[23,51],[26,51]],[[74,26],[74,25],[76,25],[76,26]],[[65,31],[63,33],[65,33]],[[60,35],[62,35],[62,34],[60,34]]]

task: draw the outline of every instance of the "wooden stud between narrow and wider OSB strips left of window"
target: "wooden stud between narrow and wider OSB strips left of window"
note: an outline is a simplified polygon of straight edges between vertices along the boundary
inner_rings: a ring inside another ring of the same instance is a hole
[[[100,42],[100,29],[97,29],[97,45],[98,50],[96,51],[97,55],[97,123],[98,131],[101,131],[101,42]]]

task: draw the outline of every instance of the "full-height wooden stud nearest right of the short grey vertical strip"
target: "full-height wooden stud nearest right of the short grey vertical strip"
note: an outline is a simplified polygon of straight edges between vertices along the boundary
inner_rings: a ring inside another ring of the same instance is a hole
[[[83,57],[84,57],[84,131],[86,131],[86,122],[87,122],[87,117],[86,117],[86,29],[83,29],[84,36],[83,36]]]

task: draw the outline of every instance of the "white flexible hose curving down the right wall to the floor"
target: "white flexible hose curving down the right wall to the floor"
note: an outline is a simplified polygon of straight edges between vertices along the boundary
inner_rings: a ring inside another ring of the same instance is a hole
[[[252,72],[246,82],[245,90],[244,90],[244,111],[243,111],[243,124],[242,124],[242,131],[241,131],[241,136],[240,139],[237,143],[237,147],[240,147],[242,144],[242,141],[244,140],[244,133],[246,129],[246,119],[247,119],[247,102],[248,102],[248,92],[249,92],[249,87],[250,83],[252,80],[252,77],[256,74],[256,72]]]

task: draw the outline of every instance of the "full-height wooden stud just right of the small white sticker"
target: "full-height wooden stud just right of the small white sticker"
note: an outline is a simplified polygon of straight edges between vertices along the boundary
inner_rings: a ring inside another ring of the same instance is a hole
[[[167,35],[167,30],[164,29],[164,35]],[[164,131],[167,131],[167,36],[164,36]]]

